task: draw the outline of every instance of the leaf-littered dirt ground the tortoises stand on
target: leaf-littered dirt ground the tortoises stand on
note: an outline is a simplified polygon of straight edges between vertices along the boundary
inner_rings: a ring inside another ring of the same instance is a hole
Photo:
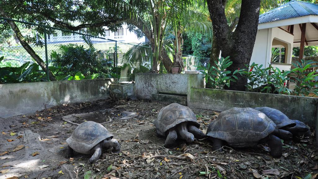
[[[284,141],[283,156],[269,155],[267,144],[257,148],[224,147],[213,152],[211,143],[179,140],[174,149],[163,147],[154,119],[167,104],[145,101],[96,101],[0,118],[0,179],[17,178],[316,178],[314,137]],[[218,112],[192,109],[206,132]],[[95,164],[89,155],[66,158],[66,139],[86,120],[102,123],[121,144],[121,152],[105,151]],[[66,122],[67,121],[67,122]],[[315,133],[315,132],[314,132]]]

